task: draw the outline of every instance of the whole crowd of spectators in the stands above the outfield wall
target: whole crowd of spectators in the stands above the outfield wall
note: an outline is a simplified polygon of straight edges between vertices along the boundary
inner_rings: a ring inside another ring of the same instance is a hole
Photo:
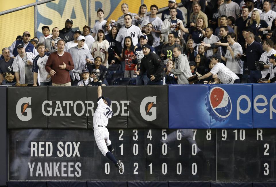
[[[40,38],[25,31],[2,50],[0,84],[94,86],[101,72],[103,85],[113,85],[112,78],[189,84],[192,76],[198,77],[195,84],[276,81],[275,0],[181,2],[187,21],[169,0],[161,18],[157,5],[143,4],[136,14],[123,3],[117,21],[104,20],[99,9],[99,20],[82,31],[72,31],[71,19],[63,29],[43,26]]]

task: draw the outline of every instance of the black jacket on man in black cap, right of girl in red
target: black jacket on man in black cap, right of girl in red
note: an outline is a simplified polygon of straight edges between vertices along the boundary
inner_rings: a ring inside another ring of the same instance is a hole
[[[141,60],[139,75],[143,75],[143,73],[147,71],[148,78],[150,78],[151,75],[154,75],[155,80],[153,82],[159,81],[164,77],[163,66],[164,65],[160,57],[157,54],[150,52],[149,54],[144,55],[144,57]]]

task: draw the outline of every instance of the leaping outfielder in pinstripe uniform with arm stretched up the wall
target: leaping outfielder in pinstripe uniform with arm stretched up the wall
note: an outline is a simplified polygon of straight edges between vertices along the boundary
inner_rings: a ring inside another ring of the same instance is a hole
[[[101,90],[101,80],[99,80],[98,86],[98,107],[95,110],[94,118],[93,118],[93,128],[94,128],[94,136],[97,143],[97,146],[101,153],[109,158],[117,167],[121,173],[123,173],[124,168],[121,160],[117,161],[113,156],[112,151],[114,150],[111,145],[111,141],[109,139],[109,132],[106,128],[108,124],[108,119],[113,116],[112,110],[110,108],[111,100],[102,96]]]

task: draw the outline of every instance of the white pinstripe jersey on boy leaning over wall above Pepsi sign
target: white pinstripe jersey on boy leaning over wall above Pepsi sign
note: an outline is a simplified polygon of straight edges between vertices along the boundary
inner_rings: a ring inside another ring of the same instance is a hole
[[[223,63],[214,65],[210,72],[212,74],[218,74],[218,78],[223,84],[233,84],[234,80],[239,79],[239,77],[228,67],[225,67]]]

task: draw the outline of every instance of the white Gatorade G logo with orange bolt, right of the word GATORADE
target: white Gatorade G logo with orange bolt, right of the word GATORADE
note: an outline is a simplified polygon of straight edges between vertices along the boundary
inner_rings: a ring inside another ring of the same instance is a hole
[[[156,119],[156,96],[145,97],[140,104],[140,113],[144,120],[153,121]]]

